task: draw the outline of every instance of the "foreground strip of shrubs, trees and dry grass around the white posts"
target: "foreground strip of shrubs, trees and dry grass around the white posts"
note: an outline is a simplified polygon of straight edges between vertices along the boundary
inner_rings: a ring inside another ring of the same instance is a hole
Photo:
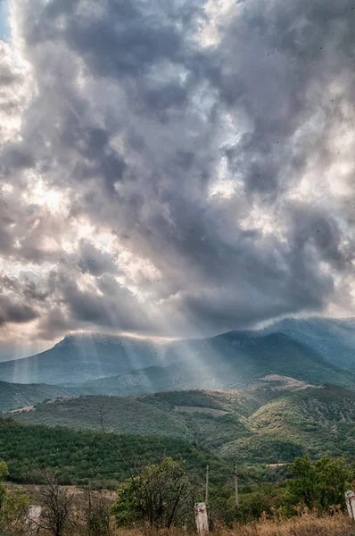
[[[0,488],[0,532],[17,536],[29,531],[44,536],[178,536],[194,532],[194,503],[202,499],[182,461],[162,456],[140,470],[128,465],[129,477],[112,501],[91,485],[81,490],[63,488],[56,474],[42,468],[42,484],[32,485],[31,500],[41,507],[34,515],[29,499]],[[0,475],[7,466],[0,465]],[[208,502],[211,532],[216,536],[351,536],[354,525],[346,517],[344,491],[351,488],[354,468],[344,459],[297,458],[292,478],[283,486],[257,492],[244,490],[240,505],[233,497]],[[33,504],[33,503],[32,503]]]

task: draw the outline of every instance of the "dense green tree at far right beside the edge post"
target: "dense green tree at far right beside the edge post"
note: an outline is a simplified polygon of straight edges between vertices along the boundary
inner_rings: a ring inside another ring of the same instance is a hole
[[[285,495],[289,505],[322,512],[329,512],[331,507],[345,507],[344,493],[351,487],[354,472],[343,458],[325,456],[312,461],[310,456],[304,456],[295,459],[291,471],[294,478]]]

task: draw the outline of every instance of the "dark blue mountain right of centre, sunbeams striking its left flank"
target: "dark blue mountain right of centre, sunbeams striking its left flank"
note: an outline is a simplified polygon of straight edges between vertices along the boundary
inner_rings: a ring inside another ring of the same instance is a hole
[[[326,361],[282,332],[230,331],[212,339],[171,345],[165,367],[152,366],[78,385],[77,394],[132,395],[169,389],[235,389],[267,374],[355,389],[355,373]]]

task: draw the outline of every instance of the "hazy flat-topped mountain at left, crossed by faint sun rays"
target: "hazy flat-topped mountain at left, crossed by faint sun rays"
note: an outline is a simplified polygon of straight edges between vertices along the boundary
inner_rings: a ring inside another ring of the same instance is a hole
[[[70,335],[36,356],[0,363],[0,380],[76,383],[128,373],[159,361],[159,347],[140,339]]]

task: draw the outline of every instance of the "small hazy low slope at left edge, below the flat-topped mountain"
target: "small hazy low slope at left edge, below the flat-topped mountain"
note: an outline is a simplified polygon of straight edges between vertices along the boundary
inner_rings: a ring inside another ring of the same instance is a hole
[[[22,385],[0,381],[0,411],[32,406],[38,402],[43,402],[46,398],[58,397],[72,397],[72,393],[68,389],[55,385]]]

